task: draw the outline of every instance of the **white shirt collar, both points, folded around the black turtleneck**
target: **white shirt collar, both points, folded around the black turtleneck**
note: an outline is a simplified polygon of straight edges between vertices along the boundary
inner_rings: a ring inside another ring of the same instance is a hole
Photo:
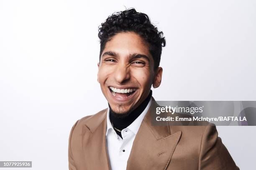
[[[143,118],[145,117],[146,113],[148,112],[148,109],[149,109],[149,107],[150,107],[150,105],[151,105],[151,102],[152,102],[152,97],[151,97],[151,99],[149,100],[148,105],[147,105],[146,108],[143,110],[143,112],[131,123],[131,125],[129,125],[129,126],[128,126],[127,128],[125,128],[125,129],[131,130],[135,135],[138,133],[138,130],[139,130],[140,126],[141,126],[141,122],[142,122]],[[111,122],[110,122],[109,111],[110,111],[110,109],[109,109],[109,107],[108,107],[106,136],[108,135],[108,131],[109,131],[110,129],[113,130],[113,131],[115,131],[114,128],[113,128],[113,126],[111,125]]]

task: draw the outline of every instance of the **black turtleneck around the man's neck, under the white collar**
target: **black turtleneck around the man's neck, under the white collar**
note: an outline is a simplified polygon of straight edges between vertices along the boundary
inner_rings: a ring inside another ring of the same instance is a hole
[[[130,112],[128,115],[125,116],[120,116],[120,114],[113,112],[111,109],[110,105],[110,122],[113,123],[113,126],[117,128],[118,130],[123,130],[124,128],[127,128],[131,123],[136,120],[136,118],[141,115],[143,110],[145,110],[146,106],[148,105],[149,100],[151,99],[152,96],[152,90],[150,90],[148,97],[139,105],[136,109],[134,109],[132,112]],[[121,132],[118,132],[118,130],[115,130],[115,132],[122,138]]]

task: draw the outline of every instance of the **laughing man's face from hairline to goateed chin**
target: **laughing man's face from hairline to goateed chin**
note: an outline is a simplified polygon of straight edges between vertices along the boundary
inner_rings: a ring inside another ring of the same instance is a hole
[[[133,32],[113,36],[98,67],[101,90],[111,109],[119,114],[131,112],[146,99],[156,74],[148,46]]]

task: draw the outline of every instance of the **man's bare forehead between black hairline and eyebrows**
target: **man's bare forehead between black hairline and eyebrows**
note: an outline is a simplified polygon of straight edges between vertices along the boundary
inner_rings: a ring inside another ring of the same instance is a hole
[[[113,36],[106,43],[102,54],[107,51],[114,51],[121,56],[133,53],[151,56],[146,42],[134,32],[121,32]]]

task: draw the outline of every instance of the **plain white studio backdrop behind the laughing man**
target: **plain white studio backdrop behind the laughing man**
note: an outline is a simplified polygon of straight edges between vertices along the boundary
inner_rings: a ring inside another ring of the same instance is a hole
[[[72,125],[108,106],[98,26],[125,6],[166,37],[156,100],[256,100],[255,0],[0,0],[1,161],[68,169]],[[217,129],[241,170],[255,168],[256,127]]]

